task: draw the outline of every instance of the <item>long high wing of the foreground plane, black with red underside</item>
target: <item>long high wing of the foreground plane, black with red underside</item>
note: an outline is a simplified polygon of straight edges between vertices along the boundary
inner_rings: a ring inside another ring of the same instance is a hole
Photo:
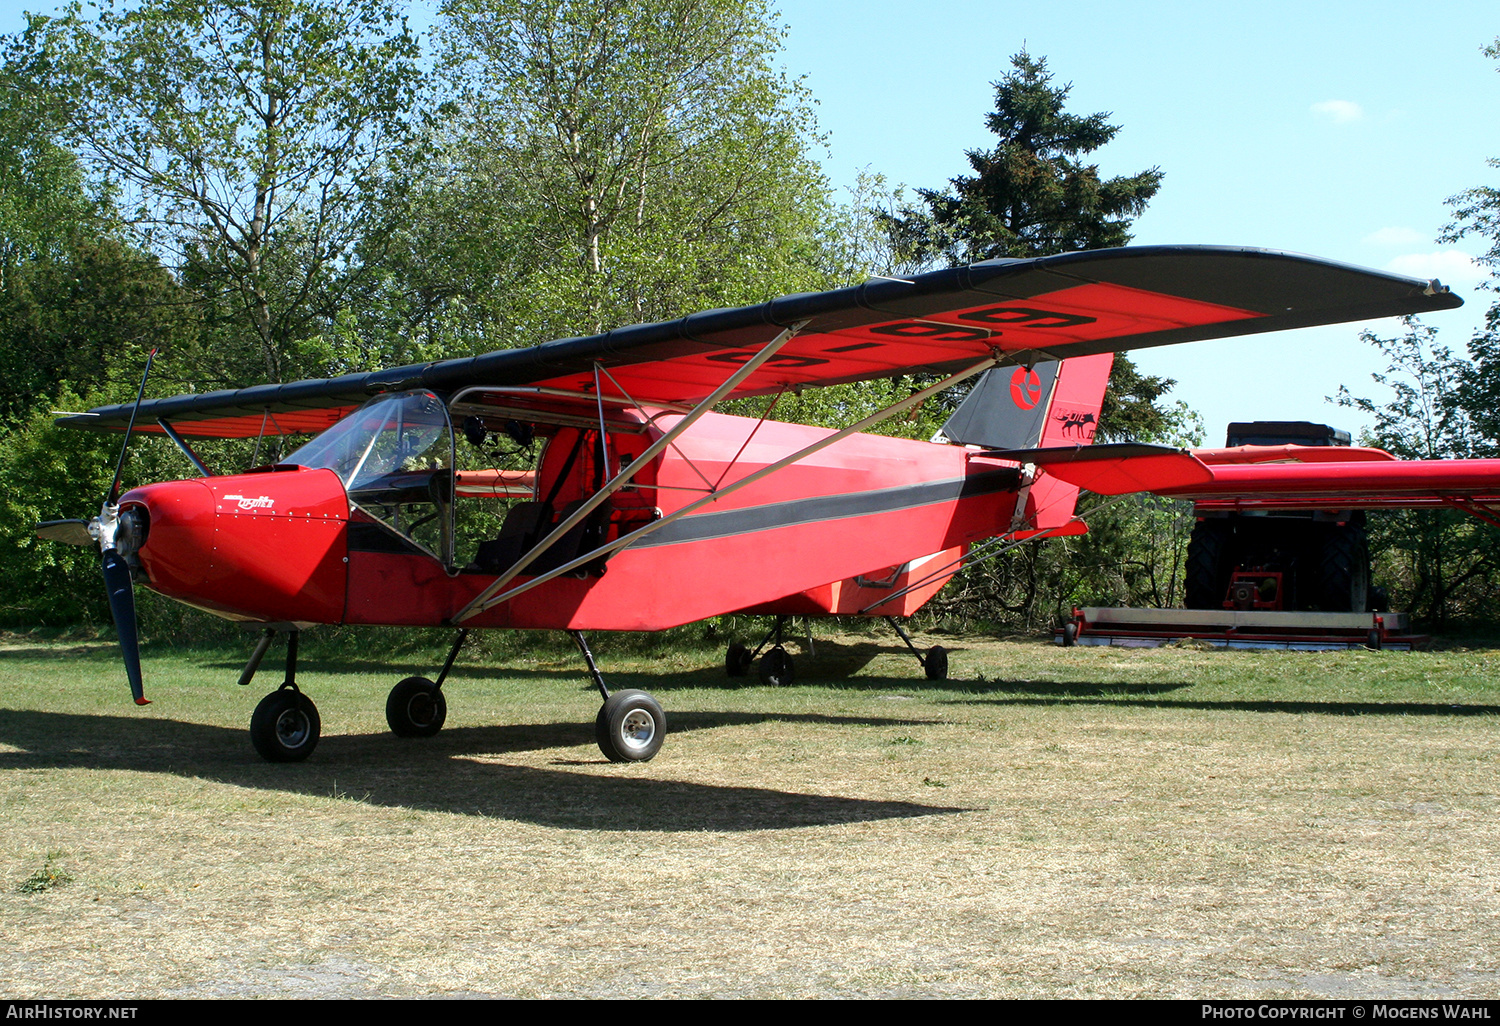
[[[1010,363],[1138,350],[1374,316],[1425,314],[1462,302],[1432,284],[1263,249],[1142,246],[1000,260],[788,296],[676,321],[622,327],[524,350],[340,378],[153,399],[136,430],[158,420],[189,436],[240,438],[321,430],[380,392],[468,386],[594,388],[642,404],[690,404],[712,392],[782,330],[792,342],[735,392],[946,374],[1000,352]],[[130,406],[58,418],[124,430]]]

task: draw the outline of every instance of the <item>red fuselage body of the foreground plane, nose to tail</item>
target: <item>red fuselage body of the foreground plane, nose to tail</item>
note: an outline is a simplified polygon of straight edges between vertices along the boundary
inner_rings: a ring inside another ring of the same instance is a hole
[[[634,430],[610,430],[610,470],[672,423],[670,414],[642,416]],[[600,450],[576,446],[580,430],[556,429],[536,474],[536,494],[556,510],[591,494],[600,478],[592,465]],[[608,537],[826,434],[708,414],[616,494]],[[573,459],[570,448],[579,450]],[[466,626],[658,630],[752,608],[856,612],[891,594],[892,579],[902,588],[921,576],[916,567],[903,574],[903,564],[933,556],[927,562],[938,570],[970,543],[1011,530],[1018,486],[1014,464],[974,450],[852,435],[662,526],[610,556],[603,573],[549,580]],[[1042,478],[1026,496],[1024,526],[1066,522],[1074,495],[1071,486]],[[138,556],[144,582],[232,620],[438,626],[495,579],[450,572],[417,546],[400,544],[351,508],[339,477],[327,470],[278,466],[148,484],[122,498],[122,507],[129,506],[150,516]],[[462,494],[456,507],[462,522]],[[872,612],[912,612],[952,570]]]

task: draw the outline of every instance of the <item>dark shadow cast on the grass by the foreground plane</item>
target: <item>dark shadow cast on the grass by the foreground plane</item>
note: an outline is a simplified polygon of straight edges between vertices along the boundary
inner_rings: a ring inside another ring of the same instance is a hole
[[[669,723],[674,732],[681,734],[771,720],[910,726],[909,720],[752,712],[680,712]],[[759,831],[975,812],[957,806],[660,780],[644,776],[642,768],[628,766],[600,777],[486,760],[518,752],[592,744],[592,729],[579,723],[453,728],[422,740],[384,732],[334,735],[322,738],[309,762],[267,765],[238,729],[177,720],[0,710],[0,742],[20,748],[0,752],[0,771],[86,768],[172,772],[240,788],[352,798],[370,806],[525,820],[567,830]],[[597,756],[596,760],[603,762]]]

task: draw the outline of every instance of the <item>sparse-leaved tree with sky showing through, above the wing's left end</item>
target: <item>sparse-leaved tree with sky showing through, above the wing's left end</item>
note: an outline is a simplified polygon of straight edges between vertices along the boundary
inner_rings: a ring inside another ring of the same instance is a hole
[[[327,370],[296,346],[338,310],[416,106],[417,44],[390,3],[105,0],[88,20],[75,2],[33,42],[141,244],[230,310],[219,374]]]

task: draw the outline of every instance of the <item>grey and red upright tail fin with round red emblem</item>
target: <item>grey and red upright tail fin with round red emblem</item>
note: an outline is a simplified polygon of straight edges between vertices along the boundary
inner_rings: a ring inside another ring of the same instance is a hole
[[[1100,426],[1113,352],[987,370],[942,435],[962,446],[1023,450],[1088,446]],[[1026,486],[1011,531],[1046,531],[1072,519],[1078,488],[1050,474]]]

